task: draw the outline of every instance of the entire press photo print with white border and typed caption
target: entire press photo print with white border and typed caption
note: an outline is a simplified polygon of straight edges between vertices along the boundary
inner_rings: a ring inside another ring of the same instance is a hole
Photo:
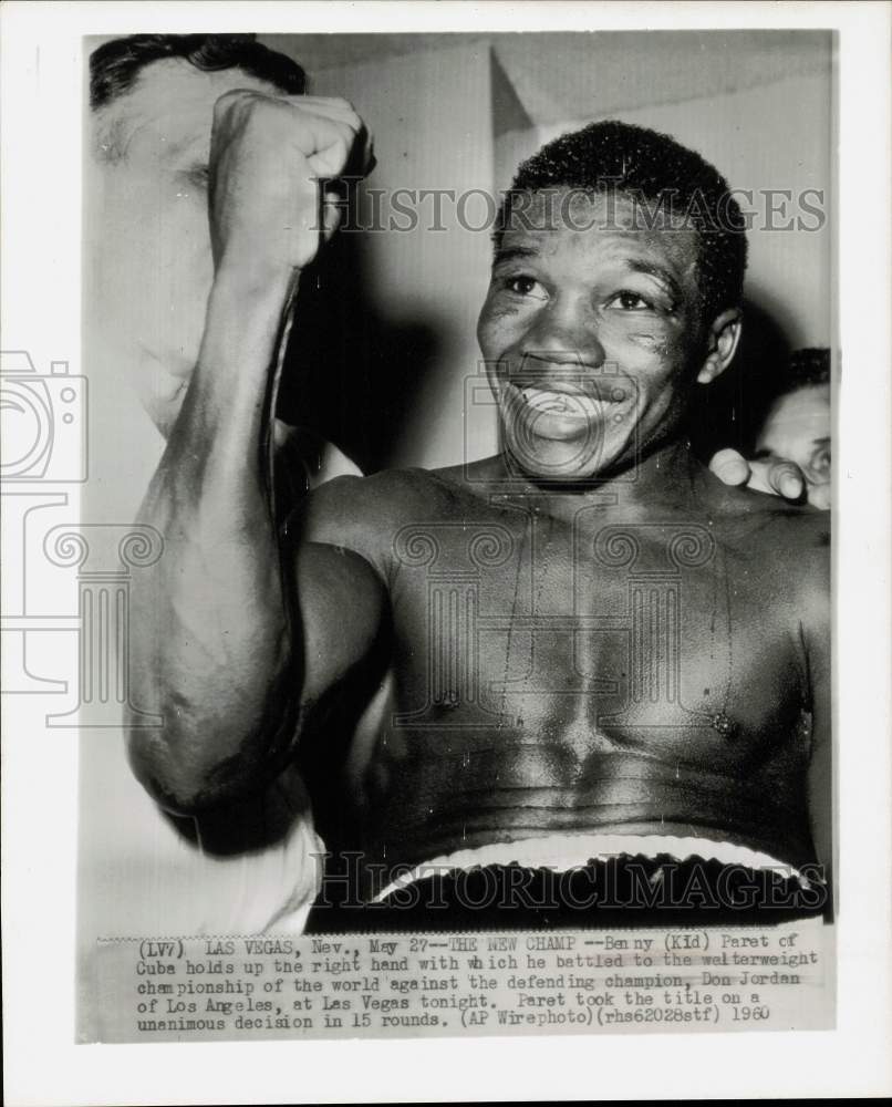
[[[840,427],[879,425],[882,354],[847,390],[889,314],[847,314],[840,227],[888,213],[854,221],[839,6],[112,7],[70,46],[80,346],[4,310],[2,352],[71,1048],[841,1034],[889,954],[846,930],[882,932],[841,826],[888,680],[853,726],[840,600],[872,651]]]

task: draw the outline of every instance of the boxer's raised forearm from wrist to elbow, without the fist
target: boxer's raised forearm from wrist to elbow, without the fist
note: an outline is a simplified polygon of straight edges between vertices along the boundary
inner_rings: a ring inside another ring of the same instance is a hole
[[[281,275],[218,270],[195,374],[141,510],[164,552],[134,581],[134,768],[172,809],[259,787],[281,763],[298,660],[261,462]]]

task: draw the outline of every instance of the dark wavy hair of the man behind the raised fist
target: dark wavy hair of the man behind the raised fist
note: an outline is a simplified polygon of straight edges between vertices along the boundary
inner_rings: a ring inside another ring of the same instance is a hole
[[[129,34],[90,55],[90,106],[104,107],[128,92],[146,65],[165,58],[181,58],[203,72],[240,69],[289,95],[307,87],[300,65],[257,42],[253,34]]]

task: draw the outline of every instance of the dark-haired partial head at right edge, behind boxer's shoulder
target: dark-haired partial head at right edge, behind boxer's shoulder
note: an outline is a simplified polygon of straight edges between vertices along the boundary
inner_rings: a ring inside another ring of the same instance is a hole
[[[809,503],[830,507],[830,351],[797,350],[777,384],[756,438],[756,458],[781,457],[802,470]]]

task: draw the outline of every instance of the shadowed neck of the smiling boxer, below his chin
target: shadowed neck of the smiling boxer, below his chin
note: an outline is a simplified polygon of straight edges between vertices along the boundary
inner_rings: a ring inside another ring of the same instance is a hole
[[[507,475],[510,463],[504,454],[500,462]],[[636,465],[578,482],[557,484],[529,475],[519,479],[516,474],[512,476],[518,482],[518,495],[535,495],[540,509],[556,516],[571,515],[587,501],[601,503],[622,515],[636,515],[693,506],[703,472],[691,444],[678,438],[647,454]]]

